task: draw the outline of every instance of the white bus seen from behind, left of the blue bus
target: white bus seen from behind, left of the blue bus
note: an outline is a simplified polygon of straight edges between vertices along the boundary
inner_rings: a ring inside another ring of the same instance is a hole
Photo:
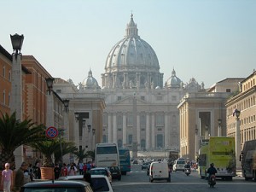
[[[97,167],[119,166],[119,149],[116,143],[96,143],[95,165]]]

